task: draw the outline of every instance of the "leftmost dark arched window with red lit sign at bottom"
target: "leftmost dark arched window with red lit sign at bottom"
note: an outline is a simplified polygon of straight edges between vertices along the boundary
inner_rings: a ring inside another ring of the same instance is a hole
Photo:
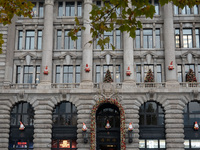
[[[9,150],[33,149],[33,120],[34,110],[29,103],[20,102],[11,109]]]

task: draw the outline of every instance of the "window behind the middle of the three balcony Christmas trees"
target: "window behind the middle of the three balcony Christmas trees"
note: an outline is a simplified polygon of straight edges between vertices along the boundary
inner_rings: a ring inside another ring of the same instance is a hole
[[[154,68],[156,69],[156,71],[154,71]],[[147,72],[149,71],[149,69],[151,69],[152,73],[154,74],[154,81],[157,83],[162,82],[162,68],[160,64],[157,64],[156,66],[154,65],[144,65],[141,66],[136,65],[136,80],[137,82],[144,82],[144,79],[147,75]],[[142,72],[142,70],[144,72]]]

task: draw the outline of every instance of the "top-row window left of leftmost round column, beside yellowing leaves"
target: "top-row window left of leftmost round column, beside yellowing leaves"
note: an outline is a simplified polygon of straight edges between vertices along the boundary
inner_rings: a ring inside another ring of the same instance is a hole
[[[44,3],[43,2],[32,2],[34,7],[32,9],[32,17],[44,17]]]

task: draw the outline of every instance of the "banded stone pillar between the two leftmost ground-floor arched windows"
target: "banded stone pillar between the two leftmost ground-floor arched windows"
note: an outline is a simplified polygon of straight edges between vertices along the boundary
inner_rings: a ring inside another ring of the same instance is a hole
[[[45,99],[35,108],[34,150],[51,150],[52,106],[52,102]]]

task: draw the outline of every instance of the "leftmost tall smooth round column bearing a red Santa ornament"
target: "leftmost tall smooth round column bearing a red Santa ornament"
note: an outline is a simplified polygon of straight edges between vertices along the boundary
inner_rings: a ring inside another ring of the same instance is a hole
[[[53,6],[54,0],[45,0],[44,34],[41,65],[41,85],[51,84],[52,77],[52,54],[53,54]],[[48,75],[44,75],[45,67],[48,67]]]

